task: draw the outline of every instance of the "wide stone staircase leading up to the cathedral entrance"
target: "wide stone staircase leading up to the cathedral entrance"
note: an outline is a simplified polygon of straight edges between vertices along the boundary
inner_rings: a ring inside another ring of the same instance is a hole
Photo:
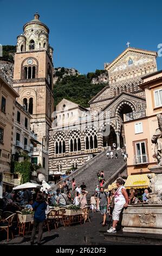
[[[114,151],[115,154],[115,150]],[[52,190],[56,190],[59,183],[63,183],[64,180],[69,178],[70,186],[72,188],[72,179],[75,178],[76,186],[81,185],[82,182],[85,182],[86,191],[88,191],[87,201],[89,202],[90,197],[95,192],[96,185],[99,185],[97,173],[99,170],[104,171],[104,178],[106,181],[106,188],[108,184],[111,184],[118,176],[126,170],[126,162],[124,161],[123,157],[121,156],[121,150],[116,150],[118,152],[118,159],[109,159],[107,160],[106,151],[102,151],[100,154],[93,157],[87,161],[83,166],[76,169],[67,178],[59,181],[57,184],[52,185]],[[75,197],[75,192],[70,190],[72,198]]]

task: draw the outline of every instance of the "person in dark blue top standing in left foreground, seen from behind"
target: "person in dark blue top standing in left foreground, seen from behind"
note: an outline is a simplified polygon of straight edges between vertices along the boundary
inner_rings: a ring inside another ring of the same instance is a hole
[[[38,228],[38,238],[37,238],[37,245],[40,245],[42,234],[43,234],[43,224],[46,220],[46,209],[47,209],[48,202],[44,200],[44,196],[42,192],[37,193],[36,201],[32,205],[31,211],[34,211],[34,223],[33,223],[33,230],[31,233],[30,244],[34,245],[34,239],[36,230]]]

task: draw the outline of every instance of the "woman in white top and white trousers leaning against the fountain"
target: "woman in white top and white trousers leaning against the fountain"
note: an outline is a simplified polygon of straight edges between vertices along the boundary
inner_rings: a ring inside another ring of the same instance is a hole
[[[107,230],[108,233],[116,233],[116,224],[119,221],[119,216],[122,208],[128,206],[128,194],[125,187],[122,185],[123,181],[121,178],[116,180],[116,186],[118,189],[115,192],[114,199],[114,210],[113,210],[113,225]]]

